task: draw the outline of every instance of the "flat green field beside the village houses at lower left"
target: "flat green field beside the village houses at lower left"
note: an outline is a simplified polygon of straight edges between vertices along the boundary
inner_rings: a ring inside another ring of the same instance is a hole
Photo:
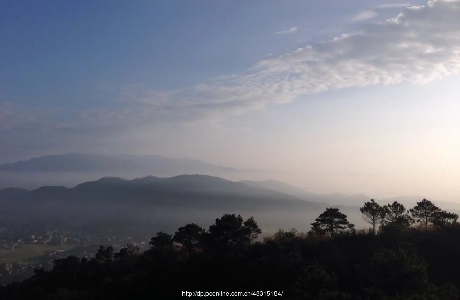
[[[0,263],[37,262],[39,258],[45,254],[52,253],[57,250],[70,250],[72,248],[74,248],[73,245],[50,246],[24,244],[15,250],[0,250]]]

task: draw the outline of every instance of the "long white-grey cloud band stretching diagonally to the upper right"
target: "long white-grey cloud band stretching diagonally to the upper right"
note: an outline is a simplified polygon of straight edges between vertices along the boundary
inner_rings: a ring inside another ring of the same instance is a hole
[[[118,108],[75,112],[66,126],[119,128],[221,120],[327,90],[423,84],[460,73],[460,2],[433,0],[399,11],[384,21],[363,22],[354,33],[268,57],[241,74],[176,90],[129,86]],[[8,108],[3,111],[9,114]],[[49,113],[42,116],[48,126],[65,125],[51,121]]]

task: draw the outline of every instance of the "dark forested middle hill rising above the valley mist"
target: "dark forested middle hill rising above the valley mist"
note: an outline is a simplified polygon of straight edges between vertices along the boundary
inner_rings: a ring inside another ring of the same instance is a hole
[[[280,206],[318,205],[277,191],[206,175],[180,175],[169,178],[147,176],[133,180],[104,177],[97,181],[78,184],[73,188],[44,186],[32,191],[7,188],[0,190],[0,201],[28,201],[29,204],[40,201],[109,201],[210,209],[270,209]]]

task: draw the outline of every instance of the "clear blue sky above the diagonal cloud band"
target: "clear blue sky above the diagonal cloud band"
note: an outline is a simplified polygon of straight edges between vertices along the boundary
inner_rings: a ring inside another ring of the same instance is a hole
[[[380,3],[5,1],[2,97],[26,105],[111,106],[126,85],[185,87],[331,38]]]

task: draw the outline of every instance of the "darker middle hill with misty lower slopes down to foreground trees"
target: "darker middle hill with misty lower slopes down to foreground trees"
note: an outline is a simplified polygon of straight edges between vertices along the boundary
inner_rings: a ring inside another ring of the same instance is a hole
[[[273,231],[286,225],[307,229],[325,207],[323,203],[279,191],[206,175],[147,176],[132,180],[104,177],[73,188],[0,190],[3,222],[91,230],[100,230],[100,226],[96,229],[90,224],[99,224],[101,220],[111,224],[103,229],[137,222],[139,227],[134,233],[151,230],[153,226],[161,230],[177,229],[185,221],[206,224],[224,213],[254,215],[264,229]]]

